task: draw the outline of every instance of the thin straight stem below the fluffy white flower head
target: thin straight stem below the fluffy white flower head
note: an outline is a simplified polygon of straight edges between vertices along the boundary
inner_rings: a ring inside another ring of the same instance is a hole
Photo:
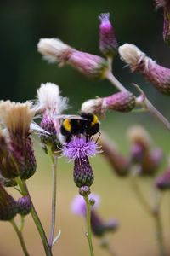
[[[52,161],[52,215],[51,215],[51,228],[48,238],[48,244],[50,247],[53,246],[54,241],[54,230],[55,230],[55,219],[56,219],[56,195],[57,195],[57,156],[53,155],[51,147],[48,147],[48,156]]]

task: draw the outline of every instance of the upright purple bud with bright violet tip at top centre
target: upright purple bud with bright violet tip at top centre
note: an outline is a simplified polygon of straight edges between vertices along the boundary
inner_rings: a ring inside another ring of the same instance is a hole
[[[118,44],[109,18],[109,13],[99,15],[99,49],[106,57],[113,57],[117,53]]]

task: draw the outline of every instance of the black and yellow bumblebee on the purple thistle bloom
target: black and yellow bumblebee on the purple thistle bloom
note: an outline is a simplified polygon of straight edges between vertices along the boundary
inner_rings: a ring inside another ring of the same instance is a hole
[[[99,119],[95,114],[82,112],[78,117],[77,119],[67,118],[62,122],[60,132],[67,143],[71,141],[71,137],[74,135],[83,134],[88,141],[99,132]]]

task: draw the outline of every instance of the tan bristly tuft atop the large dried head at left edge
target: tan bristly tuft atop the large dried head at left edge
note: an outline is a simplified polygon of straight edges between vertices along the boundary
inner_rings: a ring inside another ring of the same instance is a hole
[[[27,136],[35,114],[36,108],[33,108],[31,102],[0,102],[0,121],[13,135],[20,133],[21,136]]]

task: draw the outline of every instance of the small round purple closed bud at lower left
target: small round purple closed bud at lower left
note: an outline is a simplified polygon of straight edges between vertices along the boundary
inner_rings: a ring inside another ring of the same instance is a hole
[[[18,203],[18,213],[21,216],[26,216],[31,212],[31,198],[29,195],[20,197],[17,201]]]

